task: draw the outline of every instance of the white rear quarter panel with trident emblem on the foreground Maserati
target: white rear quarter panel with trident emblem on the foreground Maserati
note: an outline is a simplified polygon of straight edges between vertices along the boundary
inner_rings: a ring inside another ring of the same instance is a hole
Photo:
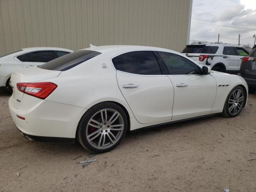
[[[58,85],[46,100],[89,109],[106,101],[117,102],[134,117],[116,80],[110,57],[99,55],[70,70],[63,71],[51,82]]]

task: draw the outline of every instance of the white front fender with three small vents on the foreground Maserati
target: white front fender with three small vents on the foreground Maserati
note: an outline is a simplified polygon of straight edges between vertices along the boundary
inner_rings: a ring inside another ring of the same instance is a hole
[[[221,72],[214,72],[211,75],[215,78],[217,84],[216,98],[212,106],[212,112],[222,112],[228,94],[237,85],[243,85],[246,88],[247,102],[248,86],[242,77]]]

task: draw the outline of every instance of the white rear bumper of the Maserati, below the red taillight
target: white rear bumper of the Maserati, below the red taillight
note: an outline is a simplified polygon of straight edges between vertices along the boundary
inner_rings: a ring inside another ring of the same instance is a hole
[[[24,95],[19,108],[14,107],[13,96],[9,99],[9,109],[17,128],[27,138],[37,141],[54,142],[54,140],[74,140],[76,128],[80,118],[86,111],[85,108],[40,100],[34,104],[32,99],[30,104],[24,102]],[[26,98],[28,99],[28,98]],[[17,117],[25,118],[22,120]],[[65,138],[65,139],[64,139]]]

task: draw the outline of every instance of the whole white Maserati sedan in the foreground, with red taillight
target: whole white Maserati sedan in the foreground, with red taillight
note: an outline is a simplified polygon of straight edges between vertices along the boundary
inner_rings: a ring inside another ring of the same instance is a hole
[[[9,108],[26,138],[116,147],[128,130],[213,114],[237,116],[248,86],[182,54],[146,46],[98,46],[14,71]]]

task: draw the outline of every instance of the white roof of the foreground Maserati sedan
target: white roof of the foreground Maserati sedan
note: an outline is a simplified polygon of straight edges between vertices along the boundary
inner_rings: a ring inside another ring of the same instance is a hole
[[[142,51],[142,50],[148,50],[148,51],[164,51],[164,52],[172,52],[176,54],[180,54],[179,52],[172,51],[165,48],[158,48],[158,47],[150,47],[150,46],[138,46],[138,45],[108,45],[108,46],[97,46],[92,48],[85,48],[82,50],[92,50],[97,51],[101,53],[109,53],[113,55],[117,55],[123,52],[130,52],[130,51]]]

